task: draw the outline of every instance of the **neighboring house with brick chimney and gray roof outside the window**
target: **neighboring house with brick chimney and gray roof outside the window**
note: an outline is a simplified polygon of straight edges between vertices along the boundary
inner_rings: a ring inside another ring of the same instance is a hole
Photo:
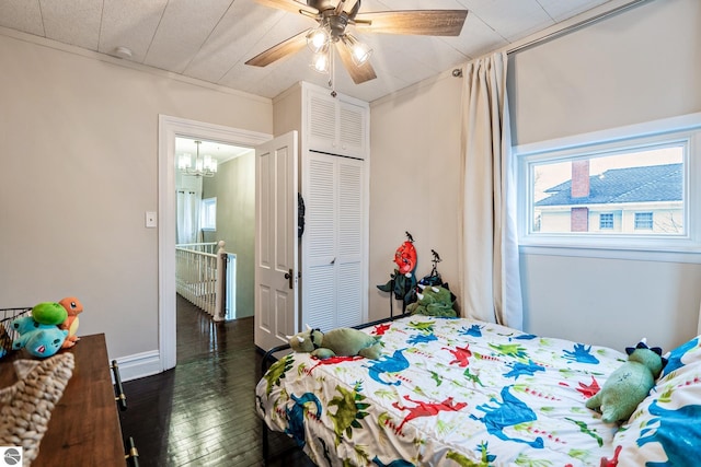
[[[572,178],[535,203],[536,230],[547,233],[683,233],[682,164],[608,170],[589,175],[589,161],[572,164]]]

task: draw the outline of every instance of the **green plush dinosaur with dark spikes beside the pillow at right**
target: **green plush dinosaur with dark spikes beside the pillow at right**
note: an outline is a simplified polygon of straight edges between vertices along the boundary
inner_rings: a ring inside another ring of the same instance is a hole
[[[655,386],[667,360],[659,347],[647,347],[643,339],[636,347],[625,348],[628,361],[616,369],[604,387],[587,400],[589,409],[599,409],[606,423],[627,421]]]

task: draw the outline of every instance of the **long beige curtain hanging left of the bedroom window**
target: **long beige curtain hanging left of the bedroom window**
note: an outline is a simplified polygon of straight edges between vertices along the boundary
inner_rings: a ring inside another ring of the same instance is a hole
[[[462,73],[462,314],[522,329],[505,52]]]

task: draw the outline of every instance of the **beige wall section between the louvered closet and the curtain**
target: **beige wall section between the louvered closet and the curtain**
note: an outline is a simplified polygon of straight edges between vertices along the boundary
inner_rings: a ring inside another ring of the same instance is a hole
[[[461,86],[441,75],[370,106],[370,319],[390,314],[389,294],[376,285],[390,279],[405,231],[415,241],[416,279],[430,272],[435,249],[444,281],[459,291]]]

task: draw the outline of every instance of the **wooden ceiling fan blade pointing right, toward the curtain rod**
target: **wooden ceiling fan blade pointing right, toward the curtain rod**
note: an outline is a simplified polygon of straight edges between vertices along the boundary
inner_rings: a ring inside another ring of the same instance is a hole
[[[404,10],[358,13],[358,30],[386,34],[459,36],[468,10]]]

